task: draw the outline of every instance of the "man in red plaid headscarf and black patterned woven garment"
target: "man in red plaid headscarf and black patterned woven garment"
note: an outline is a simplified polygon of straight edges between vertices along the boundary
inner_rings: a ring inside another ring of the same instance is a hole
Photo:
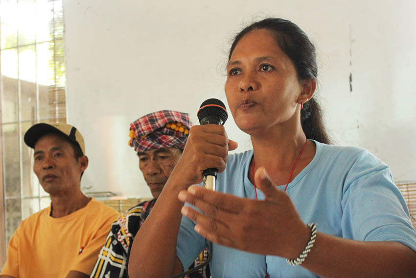
[[[147,114],[130,124],[129,146],[139,156],[139,169],[154,199],[130,208],[113,223],[91,278],[128,277],[127,264],[133,239],[178,163],[191,126],[188,114],[170,110]],[[208,251],[204,250],[194,265],[207,257]],[[210,277],[209,268],[204,267],[189,277]]]

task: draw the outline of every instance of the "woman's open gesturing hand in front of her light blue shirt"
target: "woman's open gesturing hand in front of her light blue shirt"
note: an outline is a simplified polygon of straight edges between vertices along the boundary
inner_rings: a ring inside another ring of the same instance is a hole
[[[310,229],[301,221],[289,196],[276,188],[263,167],[254,178],[265,200],[243,199],[191,186],[181,191],[178,198],[204,213],[184,206],[182,214],[197,223],[195,231],[216,244],[296,258],[309,240]]]

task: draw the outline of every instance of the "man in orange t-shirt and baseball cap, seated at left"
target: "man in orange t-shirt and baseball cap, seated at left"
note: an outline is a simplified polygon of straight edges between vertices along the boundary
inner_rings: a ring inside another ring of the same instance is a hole
[[[17,228],[0,278],[89,277],[118,213],[81,192],[84,140],[75,127],[57,123],[30,127],[24,142],[34,149],[33,171],[51,204]]]

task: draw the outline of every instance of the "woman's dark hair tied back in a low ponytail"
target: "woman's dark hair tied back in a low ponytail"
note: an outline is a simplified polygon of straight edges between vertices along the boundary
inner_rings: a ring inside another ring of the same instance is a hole
[[[295,66],[300,82],[307,79],[317,80],[315,46],[298,25],[281,18],[266,18],[245,27],[231,44],[229,61],[240,39],[245,34],[258,29],[268,30],[275,36],[277,45]],[[303,104],[300,121],[306,138],[325,144],[331,143],[324,127],[321,107],[315,97]]]

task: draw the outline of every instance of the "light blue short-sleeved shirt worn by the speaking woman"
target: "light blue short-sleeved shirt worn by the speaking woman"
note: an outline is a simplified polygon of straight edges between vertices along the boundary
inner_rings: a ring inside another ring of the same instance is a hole
[[[302,221],[315,223],[317,230],[326,234],[361,241],[397,241],[416,251],[416,231],[390,168],[364,149],[313,142],[315,157],[286,190]],[[253,150],[229,155],[226,170],[218,175],[216,191],[255,199],[254,185],[248,179],[252,156]],[[285,186],[278,188],[284,190]],[[260,190],[257,196],[264,199]],[[194,226],[182,218],[177,254],[185,269],[207,247]],[[264,278],[267,274],[271,278],[319,277],[301,266],[289,266],[285,258],[216,244],[210,269],[212,278]]]

